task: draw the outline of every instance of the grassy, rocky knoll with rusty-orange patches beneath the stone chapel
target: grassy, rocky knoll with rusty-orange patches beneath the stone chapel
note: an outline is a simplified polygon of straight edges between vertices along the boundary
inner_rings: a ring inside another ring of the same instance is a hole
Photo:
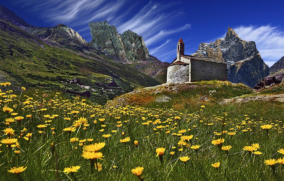
[[[211,80],[188,84],[162,84],[123,94],[108,101],[106,107],[126,105],[153,107],[158,105],[176,110],[194,110],[200,105],[218,104],[222,99],[251,93],[253,91],[248,86],[232,84],[228,81]]]

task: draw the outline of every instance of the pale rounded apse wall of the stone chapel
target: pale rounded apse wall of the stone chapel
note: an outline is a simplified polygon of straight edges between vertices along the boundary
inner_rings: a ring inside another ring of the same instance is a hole
[[[168,67],[167,83],[184,83],[189,81],[189,64]]]

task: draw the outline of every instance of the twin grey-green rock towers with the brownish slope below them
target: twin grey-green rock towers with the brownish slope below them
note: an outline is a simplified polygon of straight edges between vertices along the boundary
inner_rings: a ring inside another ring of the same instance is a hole
[[[95,48],[118,62],[133,67],[162,83],[166,82],[169,63],[161,62],[149,55],[142,36],[131,30],[118,34],[116,28],[107,21],[91,22],[89,27],[93,37],[90,44]]]

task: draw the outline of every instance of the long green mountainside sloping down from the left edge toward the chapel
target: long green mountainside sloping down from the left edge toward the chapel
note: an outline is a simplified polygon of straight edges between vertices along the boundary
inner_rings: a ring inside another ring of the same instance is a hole
[[[0,19],[0,71],[2,80],[16,86],[58,89],[99,104],[137,87],[160,84],[103,54],[86,57],[51,47],[5,19]]]

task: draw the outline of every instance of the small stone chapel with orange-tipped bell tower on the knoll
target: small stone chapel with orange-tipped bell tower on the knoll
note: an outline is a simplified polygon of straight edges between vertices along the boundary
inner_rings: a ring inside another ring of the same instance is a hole
[[[212,58],[184,55],[184,43],[180,38],[177,57],[168,66],[167,83],[200,80],[228,80],[227,64]]]

